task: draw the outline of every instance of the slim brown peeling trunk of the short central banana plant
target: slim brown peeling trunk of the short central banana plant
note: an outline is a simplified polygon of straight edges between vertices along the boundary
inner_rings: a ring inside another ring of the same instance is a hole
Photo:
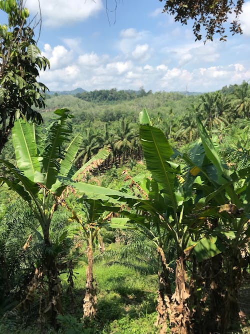
[[[91,237],[87,240],[87,268],[85,296],[83,299],[83,318],[92,319],[96,315],[96,284],[93,278],[93,247]]]

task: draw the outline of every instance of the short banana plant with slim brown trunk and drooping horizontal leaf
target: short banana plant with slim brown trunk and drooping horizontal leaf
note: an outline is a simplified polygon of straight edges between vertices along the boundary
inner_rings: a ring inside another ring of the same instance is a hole
[[[91,159],[90,159],[91,160]],[[83,171],[85,165],[78,171]],[[72,177],[58,177],[63,184],[74,188],[74,197],[66,199],[66,205],[73,207],[72,220],[76,220],[82,229],[86,241],[87,267],[85,278],[85,296],[83,299],[83,319],[92,319],[96,316],[96,282],[93,277],[94,244],[100,236],[100,229],[104,226],[124,228],[117,222],[110,223],[107,219],[110,213],[118,212],[124,204],[132,206],[137,197],[113,189],[74,181]],[[106,212],[106,215],[104,213]]]

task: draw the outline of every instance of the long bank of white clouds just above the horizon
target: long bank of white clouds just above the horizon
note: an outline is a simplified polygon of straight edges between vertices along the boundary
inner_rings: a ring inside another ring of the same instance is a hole
[[[50,90],[70,90],[82,87],[88,91],[95,89],[135,89],[143,86],[145,90],[153,91],[184,91],[188,85],[189,91],[207,92],[215,91],[221,87],[234,83],[241,83],[250,78],[250,66],[240,60],[229,65],[215,66],[207,62],[198,62],[198,58],[205,57],[205,51],[199,49],[201,45],[183,45],[180,52],[178,47],[170,49],[168,56],[175,59],[168,63],[164,59],[143,60],[150,51],[147,44],[135,45],[133,56],[118,55],[109,57],[95,52],[74,53],[65,46],[58,45],[52,48],[45,44],[43,55],[51,62],[51,69],[40,73],[40,80]],[[175,53],[173,52],[175,51]],[[208,48],[207,55],[214,51]],[[172,52],[172,53],[171,53]],[[179,65],[180,60],[193,57],[189,65]],[[182,58],[181,58],[182,57]],[[194,60],[196,63],[194,63]],[[138,66],[138,63],[140,64]]]

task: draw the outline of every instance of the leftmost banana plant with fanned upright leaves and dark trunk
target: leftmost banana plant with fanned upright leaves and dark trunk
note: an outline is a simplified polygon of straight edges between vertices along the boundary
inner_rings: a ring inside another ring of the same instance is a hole
[[[79,135],[70,141],[72,128],[68,122],[71,118],[69,111],[58,109],[54,113],[59,117],[50,125],[44,145],[33,124],[16,121],[12,138],[17,167],[0,159],[14,178],[0,177],[0,181],[27,202],[42,230],[44,251],[39,270],[47,277],[48,292],[40,320],[42,323],[49,321],[53,325],[57,313],[61,311],[60,279],[49,239],[49,227],[53,213],[63,202],[63,190],[66,187],[56,177],[76,176],[72,163],[81,141]]]

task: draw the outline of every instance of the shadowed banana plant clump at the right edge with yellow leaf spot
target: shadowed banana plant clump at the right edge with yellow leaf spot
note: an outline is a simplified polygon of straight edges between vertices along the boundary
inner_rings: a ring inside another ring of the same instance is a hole
[[[237,290],[241,267],[247,264],[250,169],[230,171],[199,119],[196,123],[201,140],[189,156],[182,155],[187,163],[186,191],[197,194],[195,217],[187,222],[192,241],[185,253],[196,260],[193,277],[208,277],[204,294],[210,304],[203,322],[210,327],[205,330],[224,333],[238,317]],[[205,222],[202,228],[197,225],[200,219]]]

